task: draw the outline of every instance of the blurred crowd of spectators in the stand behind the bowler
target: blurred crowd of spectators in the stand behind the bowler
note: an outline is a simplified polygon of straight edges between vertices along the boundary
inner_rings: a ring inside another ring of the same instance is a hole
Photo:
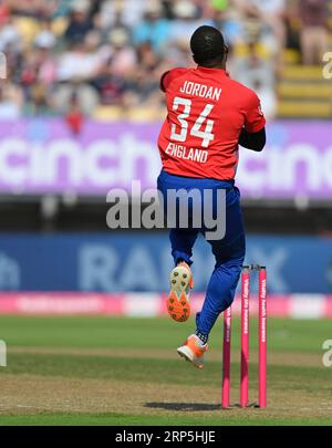
[[[283,49],[297,49],[304,64],[320,62],[328,49],[328,3],[0,1],[0,52],[7,59],[0,119],[65,115],[73,132],[79,132],[84,116],[158,114],[159,76],[172,66],[193,65],[188,41],[200,24],[224,32],[231,76],[253,87],[267,116],[273,117]]]

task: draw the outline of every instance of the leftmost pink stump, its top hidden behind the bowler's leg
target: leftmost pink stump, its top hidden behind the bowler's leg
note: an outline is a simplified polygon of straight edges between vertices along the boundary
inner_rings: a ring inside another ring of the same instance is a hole
[[[230,396],[230,335],[231,335],[231,306],[229,306],[224,312],[221,407],[229,407],[229,396]]]

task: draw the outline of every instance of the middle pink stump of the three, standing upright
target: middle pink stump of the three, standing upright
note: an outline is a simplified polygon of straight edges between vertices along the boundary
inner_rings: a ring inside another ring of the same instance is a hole
[[[249,404],[249,296],[250,296],[250,269],[245,267],[241,273],[241,382],[240,406]]]

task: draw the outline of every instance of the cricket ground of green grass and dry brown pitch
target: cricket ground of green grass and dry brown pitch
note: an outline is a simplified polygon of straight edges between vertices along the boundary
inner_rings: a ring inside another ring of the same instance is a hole
[[[257,321],[250,322],[257,400]],[[239,321],[231,403],[220,409],[221,324],[204,371],[175,348],[194,326],[168,319],[0,316],[0,425],[332,425],[331,321],[269,320],[268,408],[240,409]]]

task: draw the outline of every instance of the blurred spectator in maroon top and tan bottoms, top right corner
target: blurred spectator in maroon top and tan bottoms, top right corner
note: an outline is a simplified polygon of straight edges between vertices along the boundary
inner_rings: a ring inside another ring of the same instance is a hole
[[[328,51],[328,0],[298,1],[302,61],[305,65],[320,64]]]

